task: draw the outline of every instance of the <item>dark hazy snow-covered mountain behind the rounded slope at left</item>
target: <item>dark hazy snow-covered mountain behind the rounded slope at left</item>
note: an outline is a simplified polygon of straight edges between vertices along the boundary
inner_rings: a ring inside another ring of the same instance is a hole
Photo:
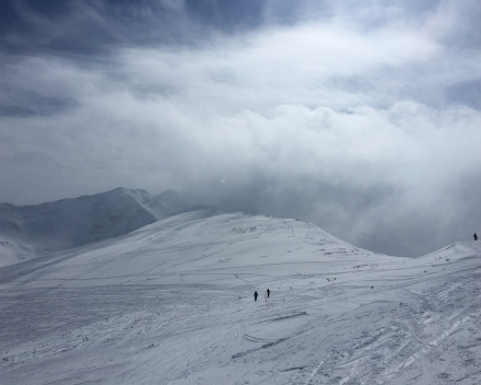
[[[189,210],[175,190],[112,191],[36,206],[0,203],[0,266],[128,234]]]

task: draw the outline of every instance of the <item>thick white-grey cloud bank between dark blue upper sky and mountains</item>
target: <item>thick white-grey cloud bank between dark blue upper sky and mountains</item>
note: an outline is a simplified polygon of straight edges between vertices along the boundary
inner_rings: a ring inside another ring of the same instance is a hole
[[[444,43],[458,25],[446,12],[378,28],[266,26],[87,62],[3,60],[1,199],[179,188],[351,242],[374,232],[441,247],[480,224],[481,187],[481,114],[445,95],[481,79],[481,57]]]

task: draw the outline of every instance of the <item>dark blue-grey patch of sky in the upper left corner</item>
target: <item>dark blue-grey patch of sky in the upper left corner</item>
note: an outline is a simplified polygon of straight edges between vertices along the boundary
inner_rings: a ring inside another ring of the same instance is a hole
[[[95,55],[116,46],[197,44],[213,31],[258,27],[257,0],[7,0],[0,5],[4,50]]]

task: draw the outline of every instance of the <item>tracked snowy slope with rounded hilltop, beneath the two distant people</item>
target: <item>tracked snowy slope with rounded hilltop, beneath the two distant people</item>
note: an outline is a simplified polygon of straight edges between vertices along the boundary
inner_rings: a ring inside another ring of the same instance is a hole
[[[481,384],[480,262],[187,212],[1,268],[0,383]]]

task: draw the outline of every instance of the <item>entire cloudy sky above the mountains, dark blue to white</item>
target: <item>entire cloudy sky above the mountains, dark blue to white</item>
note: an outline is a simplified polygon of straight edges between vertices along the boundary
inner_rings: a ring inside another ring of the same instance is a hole
[[[5,0],[0,201],[193,192],[421,255],[481,233],[481,3]]]

